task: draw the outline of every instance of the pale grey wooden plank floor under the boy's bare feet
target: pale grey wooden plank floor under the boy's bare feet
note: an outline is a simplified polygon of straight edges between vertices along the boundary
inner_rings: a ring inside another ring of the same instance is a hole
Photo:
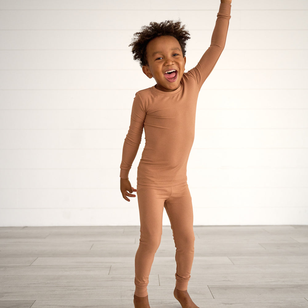
[[[200,308],[308,307],[308,226],[195,227],[188,291]],[[139,227],[0,228],[1,308],[133,308]],[[173,298],[175,248],[164,227],[148,286]]]

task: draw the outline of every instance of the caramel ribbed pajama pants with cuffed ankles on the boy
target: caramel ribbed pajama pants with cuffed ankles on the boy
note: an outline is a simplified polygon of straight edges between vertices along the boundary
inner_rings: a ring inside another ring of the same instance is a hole
[[[187,290],[193,264],[193,206],[187,183],[171,187],[137,185],[140,243],[135,257],[135,295],[148,295],[149,274],[162,235],[163,210],[168,214],[176,246],[176,288]]]

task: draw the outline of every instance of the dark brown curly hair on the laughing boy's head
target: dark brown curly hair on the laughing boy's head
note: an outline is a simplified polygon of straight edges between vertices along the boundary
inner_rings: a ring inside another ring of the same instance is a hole
[[[171,35],[175,37],[182,48],[183,57],[186,53],[186,41],[190,39],[190,34],[185,30],[185,25],[181,26],[180,21],[166,20],[164,22],[150,22],[148,26],[143,26],[140,32],[134,33],[132,43],[132,53],[134,60],[138,60],[140,66],[148,64],[146,49],[148,43],[158,36]]]

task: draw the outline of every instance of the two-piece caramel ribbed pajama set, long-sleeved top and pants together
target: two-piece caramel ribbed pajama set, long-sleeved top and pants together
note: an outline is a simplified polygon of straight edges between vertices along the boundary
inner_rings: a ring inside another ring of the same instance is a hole
[[[221,4],[211,45],[196,67],[184,73],[180,87],[138,91],[124,141],[120,177],[136,157],[144,129],[145,146],[137,171],[140,244],[135,258],[135,294],[147,296],[148,278],[160,244],[165,208],[176,246],[176,288],[187,290],[194,255],[193,207],[186,168],[195,133],[197,98],[225,46],[231,5]]]

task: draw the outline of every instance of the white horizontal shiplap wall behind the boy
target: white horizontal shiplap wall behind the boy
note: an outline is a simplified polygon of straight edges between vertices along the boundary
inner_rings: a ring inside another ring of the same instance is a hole
[[[153,81],[128,44],[152,20],[181,18],[190,69],[219,2],[0,0],[0,226],[139,224],[119,166],[132,100]],[[306,0],[233,0],[198,101],[196,225],[308,223],[307,10]]]

